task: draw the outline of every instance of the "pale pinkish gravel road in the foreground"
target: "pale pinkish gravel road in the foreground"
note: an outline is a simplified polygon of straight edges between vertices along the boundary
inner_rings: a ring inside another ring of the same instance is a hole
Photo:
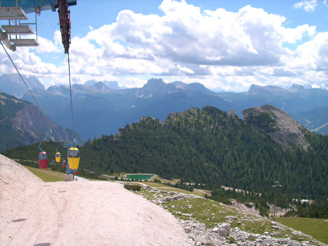
[[[20,201],[1,211],[1,246],[191,245],[170,213],[119,183],[38,181]]]

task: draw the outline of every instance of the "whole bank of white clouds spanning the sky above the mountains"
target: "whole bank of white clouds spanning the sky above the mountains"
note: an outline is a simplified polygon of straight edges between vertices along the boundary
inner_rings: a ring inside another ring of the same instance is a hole
[[[310,11],[306,6],[314,10],[317,2],[298,4]],[[242,91],[251,84],[268,85],[272,81],[283,86],[305,84],[307,80],[324,80],[328,73],[328,34],[316,33],[316,27],[306,20],[303,25],[286,28],[288,19],[263,9],[202,10],[184,0],[164,0],[159,9],[161,16],[122,10],[116,22],[98,29],[89,26],[86,36],[72,38],[74,80],[118,80],[120,85],[141,87],[147,79],[133,76],[147,74]],[[304,43],[305,39],[310,41]],[[19,47],[14,52],[19,69],[48,85],[67,85],[67,56],[63,56],[60,32],[54,32],[53,40],[39,41],[38,48]],[[301,45],[292,51],[283,47],[286,43]],[[61,63],[45,63],[36,52],[57,52]],[[12,71],[8,60],[3,60],[0,73],[7,70]]]

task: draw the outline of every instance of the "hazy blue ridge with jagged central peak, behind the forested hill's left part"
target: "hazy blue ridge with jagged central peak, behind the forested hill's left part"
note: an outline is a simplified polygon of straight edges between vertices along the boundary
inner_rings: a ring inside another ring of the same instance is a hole
[[[152,115],[161,120],[171,112],[190,107],[213,105],[229,110],[229,102],[201,84],[182,82],[166,84],[162,79],[150,79],[142,88],[115,90],[98,82],[92,86],[74,84],[72,87],[76,131],[84,139],[115,134],[118,129]],[[52,86],[39,93],[37,100],[47,115],[57,124],[70,126],[70,99],[67,86]],[[30,95],[23,99],[32,101]]]

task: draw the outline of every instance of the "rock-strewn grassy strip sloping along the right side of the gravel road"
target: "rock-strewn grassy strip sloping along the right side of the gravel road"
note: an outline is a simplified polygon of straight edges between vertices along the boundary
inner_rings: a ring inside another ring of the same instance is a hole
[[[141,196],[147,198],[151,202],[157,204],[158,206],[169,210],[172,212],[176,218],[179,219],[181,226],[187,232],[189,238],[194,242],[194,245],[231,245],[231,246],[280,246],[280,245],[289,245],[289,246],[326,246],[326,244],[319,242],[313,239],[311,236],[304,235],[302,232],[295,231],[288,227],[283,226],[280,223],[275,221],[270,221],[259,215],[254,216],[253,214],[248,214],[245,212],[240,212],[233,215],[223,216],[221,222],[212,223],[210,226],[206,223],[214,221],[216,218],[214,213],[212,217],[208,217],[205,221],[202,218],[201,221],[197,212],[193,213],[193,199],[203,199],[205,198],[181,194],[175,192],[162,192],[157,189],[146,186],[145,190],[142,190],[139,193]],[[172,205],[172,201],[187,201],[188,205],[177,206]],[[199,205],[198,205],[199,206]],[[215,209],[220,210],[219,213],[229,214],[233,212],[233,209],[229,208],[230,206],[225,206],[220,204],[216,205],[215,202],[212,204],[214,209],[209,209],[211,212],[214,212]],[[223,207],[221,207],[223,206]],[[220,207],[220,209],[219,209]],[[227,209],[228,208],[228,212]],[[180,211],[190,210],[189,213],[183,213]],[[204,212],[204,211],[202,211]],[[252,228],[246,226],[246,223],[252,224],[254,227],[264,229],[261,230],[263,233],[253,233]],[[238,225],[235,226],[235,225]]]

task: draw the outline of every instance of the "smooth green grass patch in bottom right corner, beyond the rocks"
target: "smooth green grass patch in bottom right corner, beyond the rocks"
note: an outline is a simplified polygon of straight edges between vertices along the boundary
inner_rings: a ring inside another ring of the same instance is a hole
[[[282,217],[277,219],[285,226],[312,236],[313,238],[328,244],[328,222],[324,219]]]

